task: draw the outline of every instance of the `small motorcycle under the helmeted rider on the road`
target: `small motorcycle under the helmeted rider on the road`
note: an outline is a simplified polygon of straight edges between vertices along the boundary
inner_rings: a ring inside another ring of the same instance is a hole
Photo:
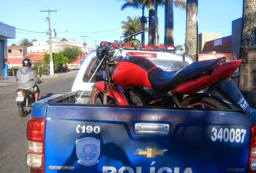
[[[17,94],[16,101],[17,101],[19,116],[25,117],[30,114],[32,107],[34,105],[34,102],[35,102],[34,93],[31,92],[30,90],[18,89],[16,91],[16,94]]]

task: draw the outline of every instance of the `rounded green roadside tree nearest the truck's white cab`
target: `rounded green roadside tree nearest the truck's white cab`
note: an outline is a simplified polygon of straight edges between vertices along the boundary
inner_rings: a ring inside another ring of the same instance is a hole
[[[77,46],[67,46],[61,51],[62,55],[68,58],[68,63],[77,61],[77,57],[81,54],[81,48]]]

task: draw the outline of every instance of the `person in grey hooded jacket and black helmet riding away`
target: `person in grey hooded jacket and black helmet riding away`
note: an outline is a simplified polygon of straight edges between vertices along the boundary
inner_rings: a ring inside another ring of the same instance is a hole
[[[18,89],[27,89],[34,93],[35,101],[39,98],[39,88],[36,83],[42,81],[38,78],[37,74],[31,69],[32,61],[29,58],[24,58],[22,67],[17,71],[16,82]]]

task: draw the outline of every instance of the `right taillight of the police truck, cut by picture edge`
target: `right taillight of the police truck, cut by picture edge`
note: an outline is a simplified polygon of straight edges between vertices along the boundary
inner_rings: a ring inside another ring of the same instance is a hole
[[[256,173],[256,125],[251,125],[248,173]]]

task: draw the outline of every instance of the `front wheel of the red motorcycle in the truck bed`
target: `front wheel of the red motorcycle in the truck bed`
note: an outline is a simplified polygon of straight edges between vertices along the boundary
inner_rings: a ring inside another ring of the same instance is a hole
[[[90,95],[90,104],[103,104],[103,92],[99,91],[97,88],[94,88],[91,91],[91,95]],[[115,104],[114,99],[112,99],[111,97],[107,97],[107,104]]]

